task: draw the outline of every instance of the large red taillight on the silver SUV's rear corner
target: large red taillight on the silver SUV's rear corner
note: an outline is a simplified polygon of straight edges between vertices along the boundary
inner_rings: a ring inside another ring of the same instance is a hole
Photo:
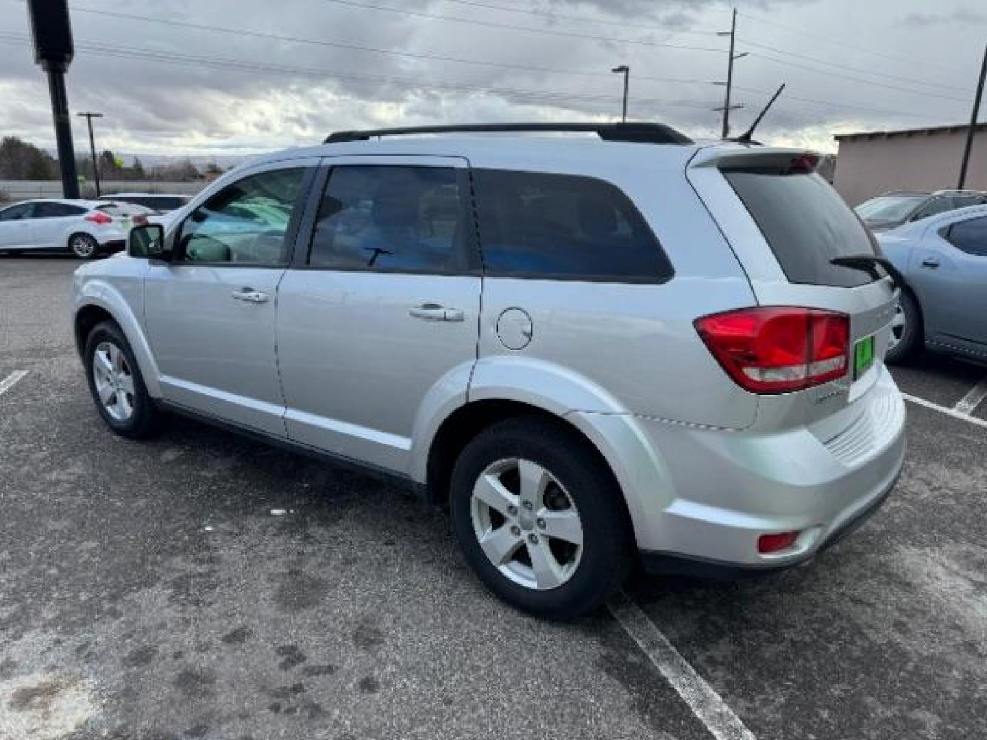
[[[788,393],[847,374],[850,317],[832,311],[770,306],[696,321],[723,369],[752,393]]]

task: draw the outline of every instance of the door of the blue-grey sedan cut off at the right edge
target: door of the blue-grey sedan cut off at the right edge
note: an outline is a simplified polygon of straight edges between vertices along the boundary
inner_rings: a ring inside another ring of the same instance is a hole
[[[987,351],[987,214],[933,225],[911,259],[929,338]]]

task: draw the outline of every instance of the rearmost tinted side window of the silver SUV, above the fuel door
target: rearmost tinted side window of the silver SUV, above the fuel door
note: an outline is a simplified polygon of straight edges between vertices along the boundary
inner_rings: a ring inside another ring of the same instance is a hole
[[[672,267],[615,185],[572,175],[473,171],[489,275],[664,282]]]

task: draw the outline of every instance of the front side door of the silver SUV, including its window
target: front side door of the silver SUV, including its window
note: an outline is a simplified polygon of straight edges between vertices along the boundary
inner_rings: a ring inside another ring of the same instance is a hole
[[[213,191],[152,261],[144,316],[166,401],[284,436],[274,297],[318,160],[254,168]]]

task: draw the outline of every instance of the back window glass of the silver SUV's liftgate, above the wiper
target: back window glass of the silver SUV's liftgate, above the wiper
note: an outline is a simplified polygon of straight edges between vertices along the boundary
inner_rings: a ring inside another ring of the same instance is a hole
[[[790,282],[852,288],[872,282],[831,259],[873,255],[871,235],[825,180],[815,174],[723,169]]]

